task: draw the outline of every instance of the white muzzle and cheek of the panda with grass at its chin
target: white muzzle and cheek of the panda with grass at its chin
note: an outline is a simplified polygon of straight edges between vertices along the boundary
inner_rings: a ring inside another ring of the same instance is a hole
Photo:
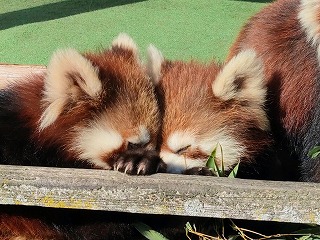
[[[168,165],[168,172],[184,173],[192,168],[206,167],[214,150],[217,165],[221,168],[223,164],[224,170],[229,171],[245,153],[245,146],[231,133],[216,132],[205,139],[202,136],[195,137],[190,130],[174,131],[166,138],[166,146],[161,148],[160,156]]]

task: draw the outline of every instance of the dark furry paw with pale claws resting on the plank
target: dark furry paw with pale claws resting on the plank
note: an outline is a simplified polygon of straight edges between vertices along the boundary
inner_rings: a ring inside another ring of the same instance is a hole
[[[113,169],[130,175],[165,173],[167,165],[156,151],[146,149],[128,150],[117,158]]]

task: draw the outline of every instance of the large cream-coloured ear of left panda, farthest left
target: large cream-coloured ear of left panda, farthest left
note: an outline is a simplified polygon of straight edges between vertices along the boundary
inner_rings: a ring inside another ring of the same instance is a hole
[[[44,83],[45,110],[39,129],[51,125],[65,105],[76,101],[81,94],[97,98],[102,91],[98,69],[74,49],[60,50],[53,54]]]

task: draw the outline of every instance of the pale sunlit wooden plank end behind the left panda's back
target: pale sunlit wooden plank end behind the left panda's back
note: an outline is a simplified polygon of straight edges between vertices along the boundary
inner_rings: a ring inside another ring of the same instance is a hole
[[[46,67],[41,65],[0,64],[0,89],[13,81],[23,80],[31,74],[43,73]]]

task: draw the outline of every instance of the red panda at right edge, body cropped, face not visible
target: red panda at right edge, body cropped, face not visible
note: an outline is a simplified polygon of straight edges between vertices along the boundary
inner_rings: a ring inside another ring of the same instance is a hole
[[[250,48],[263,60],[268,115],[284,169],[313,182],[320,182],[320,158],[308,156],[320,144],[319,44],[320,1],[278,0],[249,20],[229,53],[231,59]]]

